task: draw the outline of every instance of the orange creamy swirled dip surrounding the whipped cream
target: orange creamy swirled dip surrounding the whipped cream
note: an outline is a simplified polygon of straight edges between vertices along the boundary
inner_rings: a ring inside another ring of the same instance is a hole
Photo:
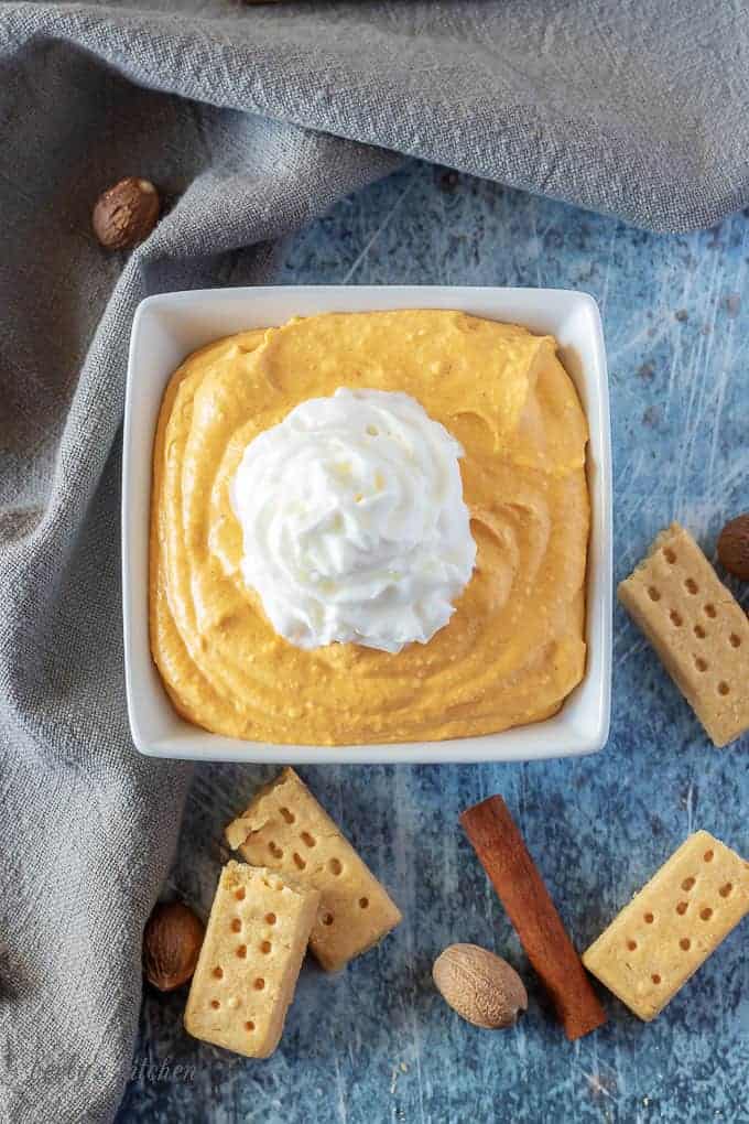
[[[408,395],[464,450],[475,568],[449,622],[396,653],[291,643],[243,573],[231,486],[246,450],[338,388]],[[460,312],[329,314],[197,352],[167,388],[154,455],[150,638],[176,709],[318,745],[554,714],[585,667],[586,441],[555,341]]]

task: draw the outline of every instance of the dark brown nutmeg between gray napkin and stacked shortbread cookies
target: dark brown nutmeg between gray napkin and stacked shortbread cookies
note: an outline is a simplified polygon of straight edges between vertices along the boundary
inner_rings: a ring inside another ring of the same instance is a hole
[[[143,970],[159,991],[186,984],[195,970],[205,928],[181,901],[159,901],[143,934]]]

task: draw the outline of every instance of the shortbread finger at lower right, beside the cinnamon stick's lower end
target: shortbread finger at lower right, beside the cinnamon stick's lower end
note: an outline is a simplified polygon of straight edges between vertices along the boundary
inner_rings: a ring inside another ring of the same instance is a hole
[[[695,832],[583,957],[590,972],[649,1022],[749,913],[749,863]]]

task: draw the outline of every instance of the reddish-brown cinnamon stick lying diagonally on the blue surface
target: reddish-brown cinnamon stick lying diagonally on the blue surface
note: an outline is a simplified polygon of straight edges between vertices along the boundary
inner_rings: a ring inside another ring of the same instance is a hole
[[[541,978],[570,1041],[606,1021],[561,918],[501,796],[460,816],[482,867]]]

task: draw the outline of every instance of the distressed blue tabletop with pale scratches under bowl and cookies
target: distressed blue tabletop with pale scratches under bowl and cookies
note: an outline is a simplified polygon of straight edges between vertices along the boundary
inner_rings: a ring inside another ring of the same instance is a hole
[[[295,237],[282,280],[593,293],[609,347],[619,580],[672,518],[713,556],[724,519],[749,507],[748,232],[737,215],[705,233],[649,235],[413,164]],[[458,827],[463,808],[502,792],[579,948],[692,830],[749,854],[749,738],[714,750],[619,607],[614,625],[612,733],[595,758],[301,770],[404,923],[340,976],[308,962],[268,1061],[192,1041],[184,994],[148,991],[119,1124],[749,1121],[749,923],[655,1023],[602,989],[609,1025],[569,1044]],[[197,770],[172,886],[202,912],[221,830],[272,772]],[[454,941],[518,968],[530,1008],[515,1031],[477,1031],[437,996],[431,962]]]

